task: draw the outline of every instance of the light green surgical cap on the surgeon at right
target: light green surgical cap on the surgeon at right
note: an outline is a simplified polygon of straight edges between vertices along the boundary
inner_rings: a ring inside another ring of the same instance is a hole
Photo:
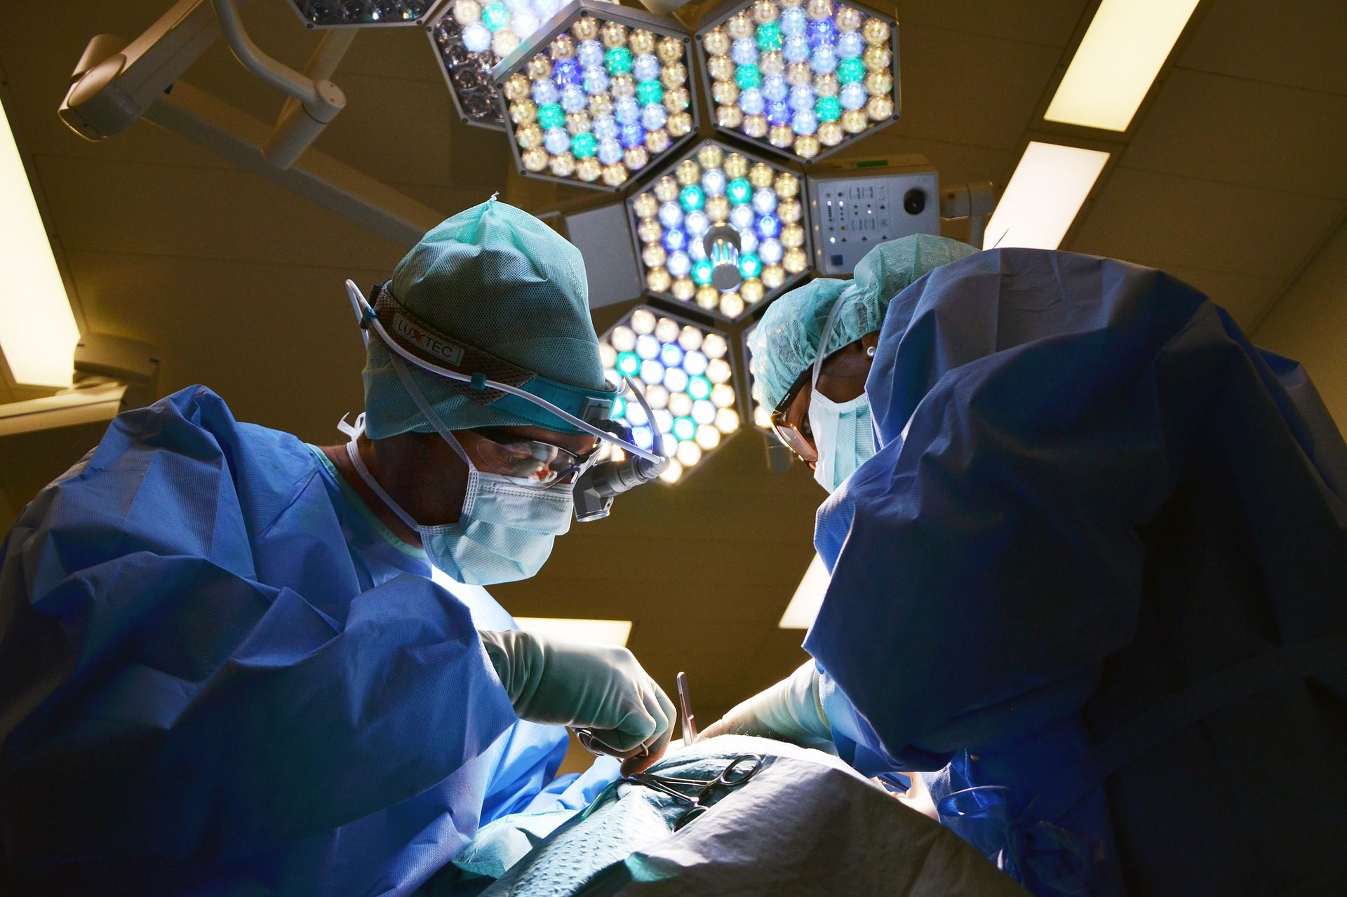
[[[974,252],[958,240],[924,233],[890,240],[857,263],[854,280],[811,280],[773,302],[749,341],[758,401],[768,411],[776,408],[819,357],[819,341],[834,303],[842,307],[824,357],[878,330],[889,302],[913,280]]]

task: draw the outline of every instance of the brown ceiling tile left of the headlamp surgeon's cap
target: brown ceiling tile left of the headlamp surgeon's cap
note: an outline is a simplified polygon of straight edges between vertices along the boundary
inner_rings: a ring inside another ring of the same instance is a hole
[[[159,346],[159,392],[220,393],[240,420],[342,439],[360,411],[364,352],[342,281],[387,269],[148,257],[67,248],[90,330]]]

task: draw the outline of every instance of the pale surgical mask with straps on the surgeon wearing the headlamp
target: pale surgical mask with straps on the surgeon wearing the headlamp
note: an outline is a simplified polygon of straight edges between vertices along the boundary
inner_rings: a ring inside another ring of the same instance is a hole
[[[440,424],[435,415],[431,426],[467,465],[467,492],[458,523],[422,525],[379,485],[357,447],[364,415],[357,418],[356,427],[343,427],[352,434],[346,454],[380,501],[420,535],[430,563],[457,582],[490,586],[533,576],[552,554],[556,536],[571,527],[575,510],[572,485],[533,489],[498,474],[482,473],[473,466],[453,432],[447,427],[442,430]]]

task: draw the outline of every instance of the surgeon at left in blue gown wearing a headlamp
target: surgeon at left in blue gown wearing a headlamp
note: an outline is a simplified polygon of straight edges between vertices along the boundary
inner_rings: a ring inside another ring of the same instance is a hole
[[[663,752],[629,652],[513,630],[478,587],[537,572],[599,439],[626,444],[578,251],[493,199],[357,304],[346,444],[191,387],[5,537],[0,892],[408,894],[481,822],[616,774],[550,784],[560,726],[629,769]]]

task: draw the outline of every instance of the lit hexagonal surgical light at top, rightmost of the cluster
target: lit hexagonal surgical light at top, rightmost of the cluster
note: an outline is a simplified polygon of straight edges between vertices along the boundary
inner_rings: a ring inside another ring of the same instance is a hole
[[[696,34],[715,127],[819,159],[898,117],[898,27],[834,0],[731,0]]]

